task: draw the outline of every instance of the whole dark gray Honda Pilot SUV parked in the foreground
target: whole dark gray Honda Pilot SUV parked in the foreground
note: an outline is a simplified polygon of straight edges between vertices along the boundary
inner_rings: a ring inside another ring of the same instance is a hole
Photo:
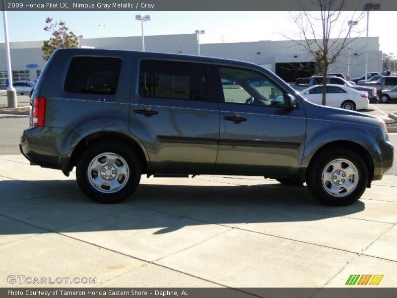
[[[264,68],[196,56],[61,49],[32,96],[20,149],[76,166],[93,200],[129,197],[141,174],[262,175],[355,202],[392,166],[385,123],[312,104]],[[265,196],[265,194],[264,194]]]

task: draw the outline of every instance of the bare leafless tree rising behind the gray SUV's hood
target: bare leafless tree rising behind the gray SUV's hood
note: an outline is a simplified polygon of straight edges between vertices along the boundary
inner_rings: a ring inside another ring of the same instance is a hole
[[[348,8],[346,0],[297,0],[297,2],[301,11],[292,12],[291,16],[299,30],[299,38],[291,38],[285,34],[283,36],[313,56],[316,70],[323,74],[322,104],[325,105],[328,69],[355,40],[349,38],[352,26],[343,30],[340,23],[343,18],[345,21],[359,20],[364,13],[353,12],[349,17],[343,17],[343,10],[351,9]]]

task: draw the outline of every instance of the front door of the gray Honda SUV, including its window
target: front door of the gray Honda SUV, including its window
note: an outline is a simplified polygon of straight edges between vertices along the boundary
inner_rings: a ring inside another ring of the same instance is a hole
[[[216,172],[296,174],[306,134],[302,104],[284,108],[286,92],[255,70],[219,66],[214,72],[221,94]]]

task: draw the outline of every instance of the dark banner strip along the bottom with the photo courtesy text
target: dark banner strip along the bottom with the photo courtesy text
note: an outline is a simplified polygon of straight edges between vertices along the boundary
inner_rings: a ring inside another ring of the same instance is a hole
[[[266,278],[266,277],[264,277]],[[0,288],[1,298],[396,298],[397,288]]]

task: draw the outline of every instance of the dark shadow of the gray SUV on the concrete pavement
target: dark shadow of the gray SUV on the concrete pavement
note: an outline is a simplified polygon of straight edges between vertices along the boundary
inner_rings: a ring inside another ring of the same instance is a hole
[[[141,184],[118,204],[88,199],[75,180],[0,181],[0,193],[0,235],[133,229],[162,234],[203,224],[315,222],[365,209],[362,201],[325,206],[313,199],[306,186],[277,182],[250,186]]]

